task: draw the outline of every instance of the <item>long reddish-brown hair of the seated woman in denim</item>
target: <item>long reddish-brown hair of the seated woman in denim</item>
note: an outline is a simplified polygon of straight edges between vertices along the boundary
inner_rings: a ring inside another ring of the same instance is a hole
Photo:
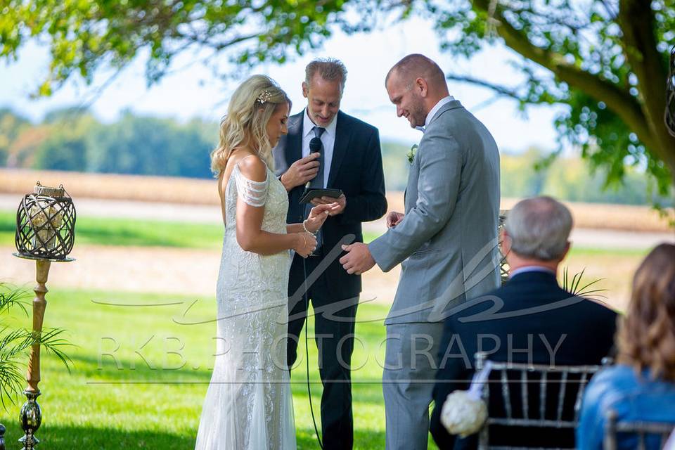
[[[675,382],[675,245],[658,245],[638,267],[618,345],[620,363]]]

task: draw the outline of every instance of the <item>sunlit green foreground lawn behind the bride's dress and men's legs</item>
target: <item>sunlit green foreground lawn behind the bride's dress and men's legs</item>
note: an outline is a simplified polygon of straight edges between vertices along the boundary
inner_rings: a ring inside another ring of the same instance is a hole
[[[193,448],[211,375],[215,324],[181,323],[214,318],[214,299],[53,290],[47,300],[45,326],[68,329],[68,338],[77,347],[68,351],[73,360],[70,374],[56,357],[43,354],[39,448]],[[384,448],[378,361],[383,361],[380,342],[385,328],[381,319],[387,309],[380,304],[359,306],[356,335],[364,345],[355,345],[353,362],[364,366],[353,375],[357,449]],[[20,316],[12,321],[29,324],[29,319]],[[312,335],[310,327],[310,339]],[[300,449],[317,449],[304,384],[304,345],[299,354],[303,355],[302,364],[293,372],[297,442]],[[309,361],[314,412],[319,420],[321,383],[313,343]],[[7,427],[8,449],[20,448],[16,442],[23,435],[17,420],[19,409],[17,404],[0,416]]]

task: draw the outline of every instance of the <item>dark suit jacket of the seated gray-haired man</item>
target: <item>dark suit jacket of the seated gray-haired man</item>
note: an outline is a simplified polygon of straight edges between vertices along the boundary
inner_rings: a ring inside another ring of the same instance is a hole
[[[492,313],[494,319],[487,319],[490,314],[483,318],[477,315],[501,302],[503,306]],[[476,435],[467,439],[456,438],[449,435],[440,423],[440,413],[447,395],[454,390],[468,389],[474,373],[475,352],[491,352],[494,349],[488,356],[493,361],[556,366],[600,364],[613,347],[616,320],[617,314],[608,307],[593,300],[575,297],[560,288],[553,274],[541,271],[517,274],[501,288],[465,303],[463,311],[446,319],[439,350],[441,366],[434,387],[435,408],[430,425],[439,448],[471,449],[477,444]],[[551,361],[551,350],[548,348],[555,349],[558,342],[560,347]],[[528,352],[523,351],[527,348],[531,349],[529,354],[532,355],[532,361],[528,361]],[[442,358],[447,354],[457,356],[447,358],[443,366]],[[463,358],[463,354],[466,358]],[[467,360],[470,364],[467,364]],[[491,380],[497,379],[498,376],[491,377]],[[536,400],[539,383],[529,383],[529,386],[529,399]],[[549,383],[549,388],[557,390],[558,386]],[[490,413],[496,411],[499,415],[499,411],[503,411],[501,392],[499,389],[491,389],[490,392]],[[511,397],[514,414],[522,411],[522,407],[515,404],[520,401],[519,397],[513,394]],[[555,402],[551,399],[558,397],[551,392],[547,397],[546,418],[551,418],[555,416]],[[565,397],[565,414],[573,411],[574,392],[569,397],[570,401]],[[530,406],[530,411],[533,409]],[[534,409],[533,417],[538,418],[538,413],[539,409]],[[574,430],[491,427],[489,432],[491,445],[574,446]]]

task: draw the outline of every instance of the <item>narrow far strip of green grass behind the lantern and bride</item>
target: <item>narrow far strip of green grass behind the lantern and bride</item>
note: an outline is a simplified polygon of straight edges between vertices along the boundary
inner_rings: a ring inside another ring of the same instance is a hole
[[[0,245],[13,245],[15,212],[0,211]],[[378,235],[366,233],[370,242]],[[75,245],[138,245],[220,249],[223,227],[219,224],[77,217]]]

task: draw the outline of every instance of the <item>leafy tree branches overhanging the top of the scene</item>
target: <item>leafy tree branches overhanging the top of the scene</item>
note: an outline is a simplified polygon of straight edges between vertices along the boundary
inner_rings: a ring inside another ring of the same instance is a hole
[[[579,146],[609,184],[641,167],[669,192],[675,137],[664,125],[675,0],[4,0],[0,57],[16,58],[28,39],[49,46],[49,95],[70,77],[91,82],[105,65],[122,68],[149,49],[149,83],[194,46],[238,65],[283,63],[321,46],[338,29],[368,31],[385,17],[421,15],[442,49],[470,57],[503,43],[520,57],[515,86],[449,73],[486,86],[522,108],[564,104],[560,142]],[[356,51],[356,50],[355,50]],[[207,63],[216,58],[207,58]],[[447,71],[448,68],[444,68]],[[77,74],[77,75],[76,75]],[[228,74],[224,74],[228,75]]]

